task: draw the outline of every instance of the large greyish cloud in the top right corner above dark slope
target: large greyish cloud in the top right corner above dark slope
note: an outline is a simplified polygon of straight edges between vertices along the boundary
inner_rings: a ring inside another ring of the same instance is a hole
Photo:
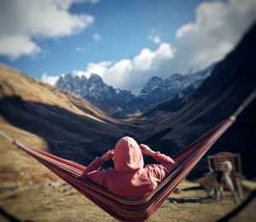
[[[177,30],[173,71],[201,70],[224,59],[256,20],[256,1],[201,3],[195,15],[195,22]]]

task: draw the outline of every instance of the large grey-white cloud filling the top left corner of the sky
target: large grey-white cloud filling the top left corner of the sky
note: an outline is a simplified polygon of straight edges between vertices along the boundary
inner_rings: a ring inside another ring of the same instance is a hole
[[[0,3],[0,54],[12,60],[21,55],[38,54],[37,38],[73,35],[94,22],[89,14],[70,14],[73,3],[95,0],[9,0]]]

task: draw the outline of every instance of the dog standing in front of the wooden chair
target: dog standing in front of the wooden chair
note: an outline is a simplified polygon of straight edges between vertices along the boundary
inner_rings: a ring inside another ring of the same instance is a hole
[[[229,190],[233,194],[234,202],[238,202],[235,187],[230,173],[232,171],[232,163],[230,161],[224,161],[221,164],[220,170],[211,170],[205,179],[205,188],[209,196],[213,199],[220,201],[224,199],[224,185],[227,185]]]

